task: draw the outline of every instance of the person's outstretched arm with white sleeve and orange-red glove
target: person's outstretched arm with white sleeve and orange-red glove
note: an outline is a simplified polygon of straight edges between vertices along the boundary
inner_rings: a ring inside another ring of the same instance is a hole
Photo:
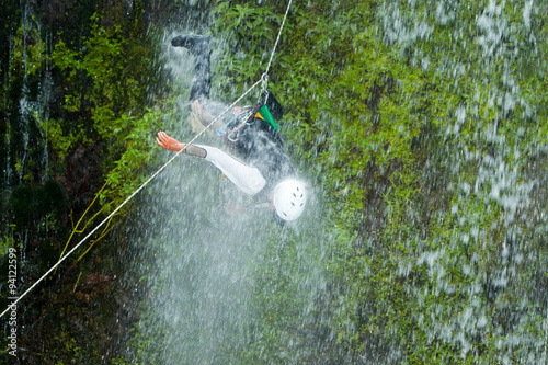
[[[164,132],[158,133],[156,142],[170,151],[180,151],[185,146],[175,138],[168,136]],[[266,185],[266,180],[264,180],[258,168],[250,167],[232,155],[216,147],[191,145],[184,152],[210,161],[228,178],[228,180],[246,194],[255,195]]]

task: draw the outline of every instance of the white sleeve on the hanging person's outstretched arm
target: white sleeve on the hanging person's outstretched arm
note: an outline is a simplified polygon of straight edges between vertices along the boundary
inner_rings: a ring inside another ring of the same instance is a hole
[[[239,190],[249,195],[255,195],[264,185],[266,180],[258,168],[248,166],[236,157],[216,147],[196,145],[203,148],[207,155],[206,160],[215,164]]]

